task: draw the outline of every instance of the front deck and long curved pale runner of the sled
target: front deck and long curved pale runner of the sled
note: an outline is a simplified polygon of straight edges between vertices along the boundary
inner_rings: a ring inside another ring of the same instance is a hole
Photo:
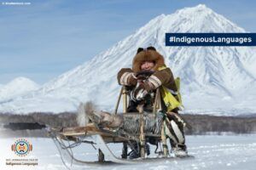
[[[90,127],[90,126],[89,126]],[[64,129],[62,129],[64,130]],[[90,130],[86,129],[84,127],[84,132],[88,133],[87,138],[84,138],[84,134],[82,134],[81,131],[78,129],[75,130],[75,135],[70,128],[66,129],[66,133],[54,133],[53,129],[49,131],[49,135],[54,139],[55,145],[57,149],[59,150],[61,154],[61,159],[64,164],[69,164],[72,161],[72,164],[75,165],[90,165],[90,166],[96,166],[96,165],[102,165],[102,164],[134,164],[134,163],[142,163],[145,161],[152,162],[152,161],[177,161],[181,159],[191,159],[194,158],[194,156],[157,156],[157,157],[148,157],[148,158],[138,158],[134,160],[129,160],[125,158],[121,158],[119,156],[115,156],[112,152],[112,150],[109,149],[108,143],[123,143],[125,141],[128,141],[129,139],[125,137],[116,136],[113,133],[102,133],[97,132],[94,130],[94,127],[90,127]],[[95,134],[93,134],[95,133]],[[80,137],[79,137],[80,136]],[[159,137],[157,137],[159,138]],[[84,140],[86,139],[86,140]],[[73,144],[65,144],[65,141],[73,141]],[[87,144],[89,147],[93,147],[96,151],[99,151],[98,153],[98,160],[96,161],[83,161],[75,158],[73,156],[72,148],[75,147],[77,144]],[[101,157],[101,154],[104,155],[105,159]]]

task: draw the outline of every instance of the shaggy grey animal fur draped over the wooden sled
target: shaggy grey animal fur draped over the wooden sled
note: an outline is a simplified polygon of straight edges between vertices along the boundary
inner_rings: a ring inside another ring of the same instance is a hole
[[[112,115],[105,111],[97,111],[91,102],[79,106],[79,126],[86,126],[88,122],[94,122],[98,127],[118,128],[126,133],[140,132],[141,115],[138,113],[125,113]],[[143,113],[145,122],[144,133],[160,134],[163,122],[163,114],[154,116],[152,113]]]

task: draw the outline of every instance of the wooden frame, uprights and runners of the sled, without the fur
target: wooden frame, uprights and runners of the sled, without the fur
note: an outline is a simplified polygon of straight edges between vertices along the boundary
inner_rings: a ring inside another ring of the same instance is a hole
[[[160,102],[157,101],[159,94],[157,90],[155,102],[154,102],[154,112],[157,111]],[[119,101],[121,96],[123,96],[123,108],[124,114],[127,112],[127,91],[123,87],[119,94],[119,99],[115,108],[114,114],[118,111]],[[137,113],[138,115],[143,116],[143,111]],[[154,113],[153,113],[154,114]],[[143,118],[140,122],[140,133],[129,134],[124,132],[119,132],[117,129],[111,129],[108,127],[97,127],[94,123],[89,123],[85,127],[63,127],[61,129],[48,128],[49,136],[54,139],[55,144],[60,151],[61,156],[67,156],[69,159],[73,160],[73,163],[76,164],[101,164],[101,163],[121,163],[121,164],[131,164],[138,163],[147,160],[158,160],[158,159],[181,159],[181,158],[192,158],[193,156],[183,156],[183,157],[173,157],[169,155],[169,151],[166,144],[166,135],[162,132],[161,134],[153,133],[144,133],[143,132]],[[163,129],[163,128],[162,128]],[[146,158],[144,147],[141,147],[140,153],[141,157],[136,160],[127,159],[127,144],[129,141],[137,141],[139,144],[144,145],[146,138],[154,138],[157,141],[160,141],[163,145],[162,156],[155,158]],[[65,141],[73,141],[73,144],[67,145]],[[76,144],[89,144],[98,152],[98,160],[96,161],[81,161],[76,159],[72,153],[72,147]],[[115,156],[108,148],[108,143],[123,143],[123,153],[121,157]],[[106,161],[108,160],[108,161]],[[64,161],[63,161],[64,162]]]

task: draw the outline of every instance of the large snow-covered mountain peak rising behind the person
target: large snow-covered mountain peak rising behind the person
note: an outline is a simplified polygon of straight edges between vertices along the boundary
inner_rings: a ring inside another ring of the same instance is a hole
[[[75,111],[92,100],[113,111],[116,75],[131,67],[137,48],[154,46],[175,77],[181,77],[185,113],[241,115],[256,112],[256,49],[253,47],[166,47],[166,32],[246,32],[206,5],[160,14],[131,36],[36,91],[0,104],[0,111]]]

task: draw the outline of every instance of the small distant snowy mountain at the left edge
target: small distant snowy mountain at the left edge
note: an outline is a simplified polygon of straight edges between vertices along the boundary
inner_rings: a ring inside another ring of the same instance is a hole
[[[26,77],[17,77],[5,85],[0,85],[0,105],[38,88],[36,82]]]

